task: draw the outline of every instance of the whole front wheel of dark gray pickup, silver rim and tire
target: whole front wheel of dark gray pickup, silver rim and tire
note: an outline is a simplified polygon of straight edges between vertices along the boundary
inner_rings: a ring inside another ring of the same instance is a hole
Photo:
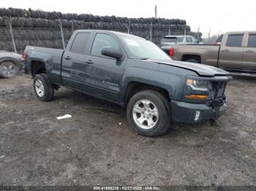
[[[170,128],[170,104],[160,93],[145,90],[136,93],[127,106],[127,120],[142,136],[159,136]]]

